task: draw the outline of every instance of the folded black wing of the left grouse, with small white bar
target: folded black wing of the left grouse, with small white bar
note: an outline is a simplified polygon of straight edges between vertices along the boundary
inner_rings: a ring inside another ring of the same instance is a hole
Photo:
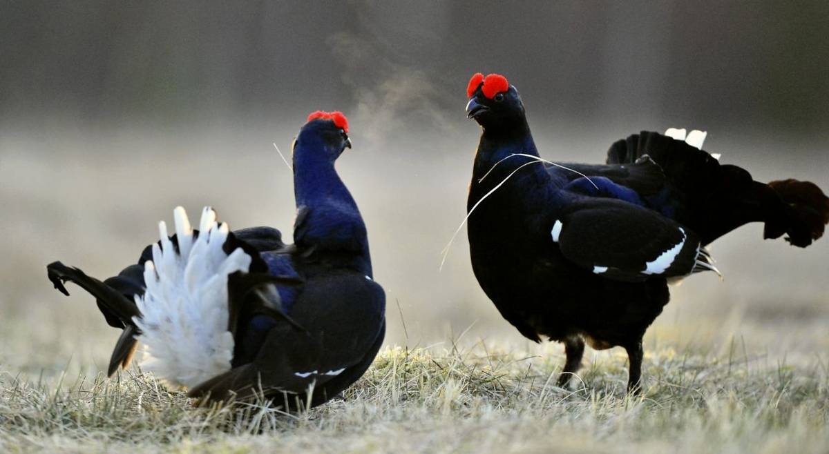
[[[385,294],[363,276],[334,272],[306,283],[292,316],[307,330],[275,326],[255,360],[196,386],[191,397],[226,400],[264,392],[303,401],[309,386],[312,405],[334,397],[361,376],[382,343]]]

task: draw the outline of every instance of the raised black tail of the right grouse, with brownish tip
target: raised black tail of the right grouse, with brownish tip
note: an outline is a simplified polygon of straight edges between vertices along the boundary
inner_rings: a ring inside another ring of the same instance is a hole
[[[748,171],[720,165],[708,152],[659,133],[643,131],[613,143],[608,164],[632,164],[648,155],[662,167],[684,207],[675,220],[709,244],[740,225],[764,222],[764,238],[779,238],[802,248],[822,236],[829,201],[808,181],[754,181]]]

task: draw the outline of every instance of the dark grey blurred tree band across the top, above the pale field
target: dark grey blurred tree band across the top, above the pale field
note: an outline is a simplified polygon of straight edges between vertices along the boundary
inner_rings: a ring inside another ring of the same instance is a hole
[[[561,117],[817,131],[829,123],[827,24],[825,0],[2,0],[0,119],[163,123],[400,102],[439,122],[482,70]],[[390,92],[409,81],[420,88]]]

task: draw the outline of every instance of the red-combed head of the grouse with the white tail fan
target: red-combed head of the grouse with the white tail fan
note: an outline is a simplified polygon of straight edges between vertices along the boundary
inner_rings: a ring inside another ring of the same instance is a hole
[[[293,152],[318,153],[332,162],[340,157],[346,147],[351,148],[348,139],[348,118],[342,112],[318,110],[308,115],[308,121],[293,141]]]

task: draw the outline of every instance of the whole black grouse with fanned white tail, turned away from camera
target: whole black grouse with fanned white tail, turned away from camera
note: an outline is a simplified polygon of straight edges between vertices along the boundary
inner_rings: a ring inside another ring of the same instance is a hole
[[[230,232],[209,207],[194,230],[179,207],[175,234],[162,222],[158,244],[114,278],[47,267],[58,290],[83,287],[124,330],[110,375],[141,343],[143,367],[191,397],[261,392],[289,409],[324,403],[361,377],[383,342],[385,294],[366,225],[334,168],[351,147],[347,132],[342,113],[315,112],[293,143],[293,245],[268,227]]]

